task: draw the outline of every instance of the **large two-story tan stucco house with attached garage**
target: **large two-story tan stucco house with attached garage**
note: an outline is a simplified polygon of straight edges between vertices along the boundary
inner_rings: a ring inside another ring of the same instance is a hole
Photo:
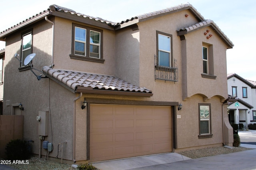
[[[94,162],[232,146],[226,49],[233,43],[189,3],[120,23],[51,5],[0,40],[3,113],[22,104],[23,139],[34,141],[34,154]]]

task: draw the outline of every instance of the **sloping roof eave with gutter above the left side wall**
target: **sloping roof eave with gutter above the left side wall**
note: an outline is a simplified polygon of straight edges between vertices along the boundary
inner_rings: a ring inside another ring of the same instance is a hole
[[[18,31],[19,29],[22,29],[25,26],[32,25],[33,23],[38,22],[39,20],[44,19],[45,16],[49,16],[49,15],[50,15],[50,12],[49,11],[45,11],[45,12],[42,12],[41,14],[38,14],[37,16],[35,16],[35,17],[31,18],[31,19],[28,19],[28,20],[20,23],[20,24],[14,25],[10,29],[0,33],[0,40],[1,41],[5,41],[4,38],[6,36],[10,35],[11,33],[15,32],[15,31]]]

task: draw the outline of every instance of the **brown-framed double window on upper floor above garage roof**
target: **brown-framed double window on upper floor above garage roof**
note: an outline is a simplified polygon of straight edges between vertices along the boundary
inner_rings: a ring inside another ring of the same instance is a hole
[[[73,23],[72,59],[104,63],[103,31],[100,29]]]

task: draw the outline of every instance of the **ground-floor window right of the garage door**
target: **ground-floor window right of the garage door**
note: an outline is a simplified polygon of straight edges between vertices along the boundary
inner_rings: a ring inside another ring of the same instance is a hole
[[[212,137],[211,130],[211,105],[198,104],[199,106],[199,138]]]

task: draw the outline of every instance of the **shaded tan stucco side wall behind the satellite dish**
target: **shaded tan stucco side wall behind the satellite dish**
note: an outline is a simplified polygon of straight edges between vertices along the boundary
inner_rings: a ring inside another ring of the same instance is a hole
[[[21,32],[30,28],[33,28],[33,53],[36,53],[32,61],[33,67],[41,70],[42,66],[51,64],[52,25],[42,21]],[[4,86],[8,88],[4,89],[3,114],[12,114],[12,105],[22,103],[24,107],[24,111],[21,111],[21,115],[24,115],[23,139],[33,140],[32,152],[38,154],[40,141],[36,116],[38,116],[38,111],[49,111],[48,137],[44,139],[52,142],[54,146],[49,156],[56,157],[58,143],[67,142],[64,145],[63,158],[72,160],[72,99],[75,98],[75,94],[48,78],[38,81],[30,70],[19,72],[20,62],[13,56],[15,53],[21,55],[21,32],[6,38]],[[34,71],[36,74],[41,74]],[[10,102],[10,105],[7,105],[6,101]],[[46,155],[45,149],[42,149],[42,155]]]

